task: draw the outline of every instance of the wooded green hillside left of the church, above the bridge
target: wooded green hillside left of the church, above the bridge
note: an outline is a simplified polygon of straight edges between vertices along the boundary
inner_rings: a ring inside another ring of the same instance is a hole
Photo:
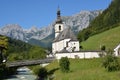
[[[0,39],[2,39],[2,37],[3,36],[0,35]],[[33,46],[5,36],[4,38],[7,39],[7,50],[4,51],[3,55],[7,58],[7,61],[40,59],[46,57],[45,49],[39,46]],[[0,44],[4,44],[4,41],[0,42]]]

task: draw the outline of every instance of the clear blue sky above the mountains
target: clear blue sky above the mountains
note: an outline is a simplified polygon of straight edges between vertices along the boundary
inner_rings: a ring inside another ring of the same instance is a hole
[[[81,10],[106,9],[112,0],[0,0],[0,27],[19,24],[27,29],[45,27],[56,19],[58,5],[62,16]]]

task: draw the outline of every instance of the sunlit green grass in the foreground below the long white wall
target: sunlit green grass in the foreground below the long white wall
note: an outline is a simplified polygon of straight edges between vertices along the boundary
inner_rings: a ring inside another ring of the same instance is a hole
[[[54,72],[53,80],[119,80],[120,71],[107,72],[102,67],[102,59],[70,59],[70,72]],[[48,70],[59,68],[58,61],[47,66]]]

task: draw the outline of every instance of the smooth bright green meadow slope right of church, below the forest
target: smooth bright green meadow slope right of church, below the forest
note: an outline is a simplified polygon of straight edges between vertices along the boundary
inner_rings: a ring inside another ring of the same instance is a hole
[[[105,45],[107,49],[114,49],[120,44],[120,26],[90,37],[81,43],[84,50],[100,50]]]

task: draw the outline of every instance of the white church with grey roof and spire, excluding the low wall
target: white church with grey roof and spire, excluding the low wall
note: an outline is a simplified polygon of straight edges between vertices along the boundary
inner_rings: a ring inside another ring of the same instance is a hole
[[[54,31],[55,39],[52,43],[53,54],[79,51],[79,41],[71,31],[71,28],[64,26],[59,8],[57,10],[57,20],[54,25]]]

